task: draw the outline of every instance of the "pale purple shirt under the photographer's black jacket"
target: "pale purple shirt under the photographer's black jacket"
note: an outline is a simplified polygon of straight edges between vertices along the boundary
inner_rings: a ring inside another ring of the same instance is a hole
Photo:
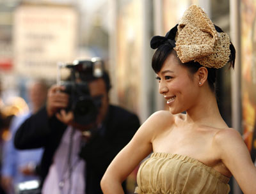
[[[68,126],[54,154],[54,160],[45,179],[42,194],[85,193],[85,161],[78,155],[81,148],[81,138],[83,138],[81,131],[73,130],[71,126]],[[71,141],[72,146],[70,147]],[[68,160],[70,160],[70,165],[68,165]]]

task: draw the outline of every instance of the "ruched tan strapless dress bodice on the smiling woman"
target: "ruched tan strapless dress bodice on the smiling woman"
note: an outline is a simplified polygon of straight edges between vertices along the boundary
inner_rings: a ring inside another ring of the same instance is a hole
[[[135,193],[228,193],[229,178],[188,156],[152,153],[137,175]]]

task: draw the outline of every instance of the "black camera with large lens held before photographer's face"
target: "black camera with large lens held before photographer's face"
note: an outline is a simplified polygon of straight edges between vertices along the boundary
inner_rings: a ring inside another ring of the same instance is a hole
[[[65,68],[68,78],[61,80],[61,69]],[[65,86],[65,93],[69,94],[67,111],[74,113],[74,121],[86,126],[95,123],[101,98],[93,98],[90,95],[88,82],[102,77],[104,63],[99,57],[90,60],[76,60],[72,64],[58,64],[57,84]]]

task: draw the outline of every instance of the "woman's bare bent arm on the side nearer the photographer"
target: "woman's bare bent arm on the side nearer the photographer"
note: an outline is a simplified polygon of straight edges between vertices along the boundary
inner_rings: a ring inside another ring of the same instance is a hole
[[[122,182],[140,164],[140,161],[152,152],[152,140],[156,131],[161,128],[159,126],[160,115],[161,113],[157,112],[150,116],[129,144],[111,162],[100,182],[104,194],[124,193]]]

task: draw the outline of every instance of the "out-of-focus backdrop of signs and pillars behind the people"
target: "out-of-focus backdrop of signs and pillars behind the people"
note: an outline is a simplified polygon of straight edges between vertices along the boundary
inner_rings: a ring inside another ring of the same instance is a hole
[[[221,115],[256,156],[255,0],[0,0],[0,108],[8,122],[28,108],[26,84],[34,78],[56,83],[58,62],[102,57],[111,75],[111,103],[140,117],[164,107],[151,68],[150,38],[164,35],[191,4],[198,4],[237,50],[235,71],[218,74]],[[134,190],[131,175],[131,191]],[[231,193],[241,193],[230,181]]]

